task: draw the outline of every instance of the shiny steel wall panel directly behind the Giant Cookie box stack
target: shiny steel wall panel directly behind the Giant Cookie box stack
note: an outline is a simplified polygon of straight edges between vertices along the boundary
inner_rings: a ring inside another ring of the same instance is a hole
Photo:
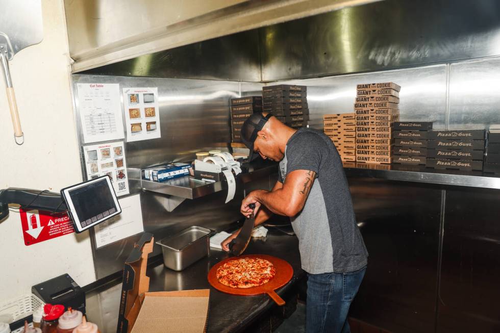
[[[357,84],[389,81],[402,87],[399,94],[401,120],[434,121],[435,129],[444,129],[446,65],[280,81],[272,85],[306,85],[311,126],[322,129],[323,114],[354,112]]]

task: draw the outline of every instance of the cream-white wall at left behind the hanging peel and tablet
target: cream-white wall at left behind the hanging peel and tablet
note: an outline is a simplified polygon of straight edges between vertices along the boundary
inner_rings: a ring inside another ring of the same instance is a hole
[[[68,41],[62,0],[42,0],[43,41],[10,63],[24,144],[14,143],[0,81],[0,189],[55,192],[82,181],[70,88]],[[69,273],[80,286],[95,280],[88,233],[24,245],[19,214],[0,222],[0,305],[31,286]]]

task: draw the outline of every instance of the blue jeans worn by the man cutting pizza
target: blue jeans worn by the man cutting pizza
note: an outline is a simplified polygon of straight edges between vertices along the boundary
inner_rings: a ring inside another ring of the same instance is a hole
[[[365,271],[308,274],[306,333],[351,332],[347,313]]]

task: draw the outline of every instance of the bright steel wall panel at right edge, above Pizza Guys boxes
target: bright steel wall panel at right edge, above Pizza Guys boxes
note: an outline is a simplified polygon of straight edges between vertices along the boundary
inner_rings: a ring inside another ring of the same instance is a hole
[[[451,64],[449,79],[450,129],[500,124],[500,58]]]

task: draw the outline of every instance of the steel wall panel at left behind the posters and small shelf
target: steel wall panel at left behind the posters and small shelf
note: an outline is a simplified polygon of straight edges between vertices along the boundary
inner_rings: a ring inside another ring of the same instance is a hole
[[[220,229],[241,218],[239,207],[244,191],[242,184],[237,186],[235,198],[227,204],[224,204],[225,191],[221,191],[185,200],[173,212],[168,212],[167,196],[141,191],[140,170],[159,163],[192,161],[196,151],[228,148],[229,99],[259,92],[262,84],[80,74],[74,74],[72,80],[80,142],[83,142],[83,136],[78,111],[78,83],[119,83],[120,89],[158,87],[162,137],[125,142],[131,193],[141,193],[145,231],[152,232],[159,240],[191,225]],[[82,161],[82,167],[83,164]],[[268,184],[268,177],[263,182]],[[96,249],[93,232],[91,237],[97,278],[120,271],[130,248],[139,238],[131,237]],[[161,250],[155,247],[154,254],[160,253]]]

